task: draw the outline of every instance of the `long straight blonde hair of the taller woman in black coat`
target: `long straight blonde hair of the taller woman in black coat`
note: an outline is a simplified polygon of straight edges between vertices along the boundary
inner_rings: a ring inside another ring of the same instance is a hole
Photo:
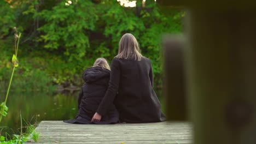
[[[132,34],[126,33],[120,39],[118,55],[115,57],[141,61],[142,55],[139,50],[138,41]]]

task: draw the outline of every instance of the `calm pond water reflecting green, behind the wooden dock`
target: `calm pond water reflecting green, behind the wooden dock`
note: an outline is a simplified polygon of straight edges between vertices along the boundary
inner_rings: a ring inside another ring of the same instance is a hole
[[[162,109],[164,102],[161,99],[162,91],[155,91],[160,98]],[[62,121],[72,119],[77,115],[77,98],[79,91],[63,92],[10,92],[7,106],[9,107],[7,117],[3,117],[0,123],[1,135],[8,133],[19,134],[20,113],[24,129],[27,124],[34,124],[40,121]],[[3,101],[4,92],[0,93],[0,100]],[[27,123],[27,124],[26,124]]]

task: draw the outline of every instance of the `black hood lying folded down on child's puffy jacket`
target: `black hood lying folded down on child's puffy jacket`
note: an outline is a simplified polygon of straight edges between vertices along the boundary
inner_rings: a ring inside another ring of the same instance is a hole
[[[110,71],[101,67],[92,67],[86,69],[83,73],[83,80],[86,83],[92,83],[106,77],[109,77]]]

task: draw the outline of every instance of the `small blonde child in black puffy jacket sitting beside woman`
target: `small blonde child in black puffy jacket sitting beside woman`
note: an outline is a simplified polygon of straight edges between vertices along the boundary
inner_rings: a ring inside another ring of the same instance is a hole
[[[86,69],[83,73],[84,85],[81,88],[78,98],[78,115],[75,119],[64,121],[66,123],[82,124],[112,124],[117,123],[119,113],[112,104],[106,116],[100,122],[91,122],[92,116],[100,105],[102,98],[108,88],[110,68],[104,58],[97,58],[94,66]]]

